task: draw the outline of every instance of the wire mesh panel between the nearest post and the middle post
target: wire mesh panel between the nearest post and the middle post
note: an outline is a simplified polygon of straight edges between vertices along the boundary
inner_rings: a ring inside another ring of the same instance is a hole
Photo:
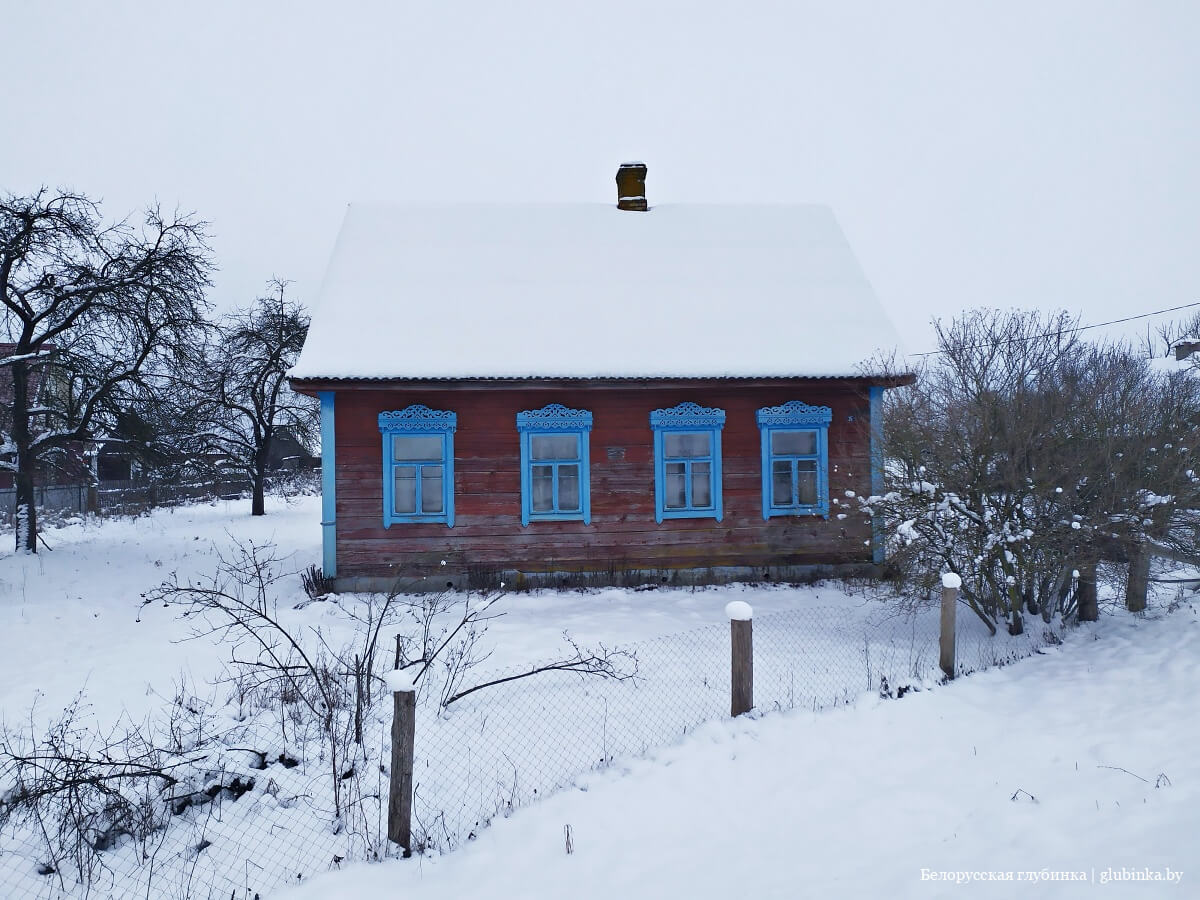
[[[727,626],[624,649],[636,659],[636,677],[624,680],[548,672],[479,691],[444,709],[426,694],[418,712],[413,779],[419,841],[452,850],[494,817],[581,774],[728,715]]]

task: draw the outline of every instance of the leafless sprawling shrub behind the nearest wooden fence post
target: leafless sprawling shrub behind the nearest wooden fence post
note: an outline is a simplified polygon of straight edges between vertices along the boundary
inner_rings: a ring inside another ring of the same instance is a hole
[[[614,680],[637,674],[634,653],[581,647],[564,635],[570,649],[563,658],[468,684],[490,655],[481,642],[488,622],[503,614],[497,608],[506,596],[503,589],[478,598],[450,590],[409,596],[401,593],[406,583],[397,581],[386,594],[348,599],[347,612],[359,628],[352,643],[332,647],[320,628],[293,628],[280,614],[278,586],[295,575],[284,570],[282,562],[271,544],[235,544],[232,556],[221,559],[210,578],[180,582],[178,574],[172,574],[143,594],[143,604],[179,607],[196,623],[193,637],[217,635],[228,641],[240,694],[259,701],[270,697],[263,703],[268,708],[287,706],[284,697],[302,708],[304,718],[317,724],[329,751],[338,815],[347,809],[347,773],[354,770],[358,757],[367,758],[362,724],[372,697],[378,698],[374,686],[383,682],[380,637],[394,625],[407,626],[396,635],[394,667],[413,670],[409,683],[437,696],[442,709],[485,688],[542,672]],[[421,583],[414,580],[407,587]],[[281,716],[281,726],[284,721]]]

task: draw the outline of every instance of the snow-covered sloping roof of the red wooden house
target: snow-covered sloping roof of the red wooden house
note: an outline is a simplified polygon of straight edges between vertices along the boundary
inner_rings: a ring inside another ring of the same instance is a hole
[[[899,338],[818,205],[352,205],[293,378],[868,373]]]

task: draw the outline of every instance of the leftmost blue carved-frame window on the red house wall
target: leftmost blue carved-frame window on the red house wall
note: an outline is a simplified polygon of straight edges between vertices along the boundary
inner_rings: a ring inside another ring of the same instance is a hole
[[[454,432],[458,416],[414,403],[379,413],[383,527],[444,522],[454,527]]]

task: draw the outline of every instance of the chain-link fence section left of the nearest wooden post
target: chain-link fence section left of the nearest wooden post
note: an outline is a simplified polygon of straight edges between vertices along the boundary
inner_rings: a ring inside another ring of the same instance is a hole
[[[336,757],[322,722],[290,708],[245,722],[214,710],[202,734],[190,733],[194,720],[173,721],[170,733],[154,734],[176,745],[152,754],[127,733],[98,737],[85,716],[52,726],[49,740],[18,745],[8,736],[0,774],[20,768],[23,778],[16,792],[16,779],[5,778],[0,806],[42,787],[42,775],[53,775],[56,797],[53,809],[0,827],[0,896],[252,900],[346,860],[378,858],[383,714],[384,704],[368,713],[361,744],[337,734]],[[25,764],[14,766],[14,755]]]

